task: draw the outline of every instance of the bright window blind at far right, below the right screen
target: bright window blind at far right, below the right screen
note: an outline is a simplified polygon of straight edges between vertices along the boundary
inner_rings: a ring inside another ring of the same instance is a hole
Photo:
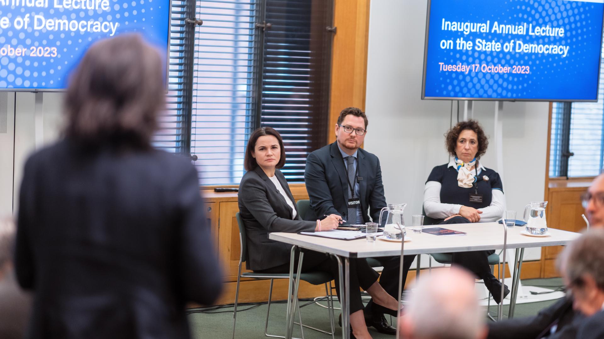
[[[603,53],[604,54],[604,53]],[[604,55],[603,55],[604,57]],[[602,59],[604,60],[604,59]],[[554,103],[551,120],[550,177],[560,175],[562,112],[564,103]],[[600,81],[596,103],[572,103],[570,110],[568,177],[591,177],[604,166],[604,62],[600,62]]]

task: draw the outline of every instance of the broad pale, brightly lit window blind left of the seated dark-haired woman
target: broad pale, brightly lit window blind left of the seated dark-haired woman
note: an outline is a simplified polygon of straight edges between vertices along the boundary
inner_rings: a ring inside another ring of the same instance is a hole
[[[197,1],[191,154],[200,185],[238,184],[254,128],[254,1]]]

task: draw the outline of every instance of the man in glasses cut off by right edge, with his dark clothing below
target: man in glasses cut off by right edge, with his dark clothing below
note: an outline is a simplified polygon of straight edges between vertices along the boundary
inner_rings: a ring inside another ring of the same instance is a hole
[[[592,229],[604,229],[604,175],[591,183],[582,197],[585,215]],[[574,339],[585,316],[573,309],[572,296],[558,299],[533,317],[489,323],[489,339]]]

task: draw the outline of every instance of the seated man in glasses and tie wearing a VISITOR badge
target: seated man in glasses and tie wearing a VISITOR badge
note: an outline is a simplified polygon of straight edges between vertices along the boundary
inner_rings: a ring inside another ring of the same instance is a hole
[[[335,125],[335,135],[336,142],[307,157],[304,181],[315,215],[306,220],[337,214],[346,224],[377,222],[386,199],[379,159],[360,148],[367,135],[367,116],[356,107],[343,109]],[[414,257],[405,256],[403,284]],[[398,300],[400,257],[377,259],[384,267],[380,285]],[[373,301],[364,311],[367,326],[374,326],[384,334],[396,334],[396,329],[388,325],[384,317],[384,313],[396,316],[396,311],[391,312]]]

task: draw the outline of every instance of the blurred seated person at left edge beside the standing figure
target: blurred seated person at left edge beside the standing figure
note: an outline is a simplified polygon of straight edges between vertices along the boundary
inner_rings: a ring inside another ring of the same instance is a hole
[[[25,335],[31,296],[19,288],[13,273],[14,223],[0,219],[0,338],[21,339]]]

